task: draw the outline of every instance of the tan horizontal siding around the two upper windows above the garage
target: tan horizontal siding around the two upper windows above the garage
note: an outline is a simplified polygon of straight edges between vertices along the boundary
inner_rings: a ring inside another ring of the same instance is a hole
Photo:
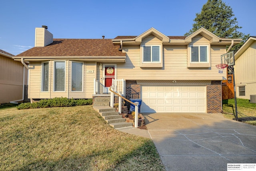
[[[187,46],[163,46],[163,68],[140,68],[140,48],[125,46],[126,64],[118,64],[117,79],[125,80],[222,80],[216,64],[226,52],[224,46],[211,46],[210,68],[187,68]]]

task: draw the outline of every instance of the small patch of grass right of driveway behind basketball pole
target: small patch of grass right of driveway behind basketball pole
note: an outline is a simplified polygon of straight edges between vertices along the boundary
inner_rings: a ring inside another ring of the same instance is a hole
[[[250,100],[248,99],[236,99],[236,103],[237,103],[237,111],[239,113],[242,113],[246,116],[256,117],[256,103],[250,103]],[[224,117],[227,117],[229,119],[233,119],[236,117],[234,99],[222,100],[222,109],[225,113],[231,113],[231,114],[223,114]],[[244,117],[244,115],[238,114],[238,117]],[[246,123],[249,123],[251,125],[256,125],[256,121],[246,121]]]

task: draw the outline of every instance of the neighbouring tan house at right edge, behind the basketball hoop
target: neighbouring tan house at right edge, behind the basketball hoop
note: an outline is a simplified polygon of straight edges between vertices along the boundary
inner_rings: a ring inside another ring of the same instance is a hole
[[[251,36],[235,54],[236,97],[256,99],[256,36]],[[256,101],[254,101],[256,102]]]

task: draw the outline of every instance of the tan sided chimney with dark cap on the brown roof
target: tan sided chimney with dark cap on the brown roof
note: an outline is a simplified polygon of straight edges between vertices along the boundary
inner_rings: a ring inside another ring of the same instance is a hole
[[[47,26],[36,28],[35,47],[44,47],[53,42],[53,35],[47,29]]]

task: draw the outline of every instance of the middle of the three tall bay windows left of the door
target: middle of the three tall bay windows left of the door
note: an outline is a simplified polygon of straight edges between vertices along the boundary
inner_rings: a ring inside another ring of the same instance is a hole
[[[54,62],[54,91],[65,91],[65,61]]]

